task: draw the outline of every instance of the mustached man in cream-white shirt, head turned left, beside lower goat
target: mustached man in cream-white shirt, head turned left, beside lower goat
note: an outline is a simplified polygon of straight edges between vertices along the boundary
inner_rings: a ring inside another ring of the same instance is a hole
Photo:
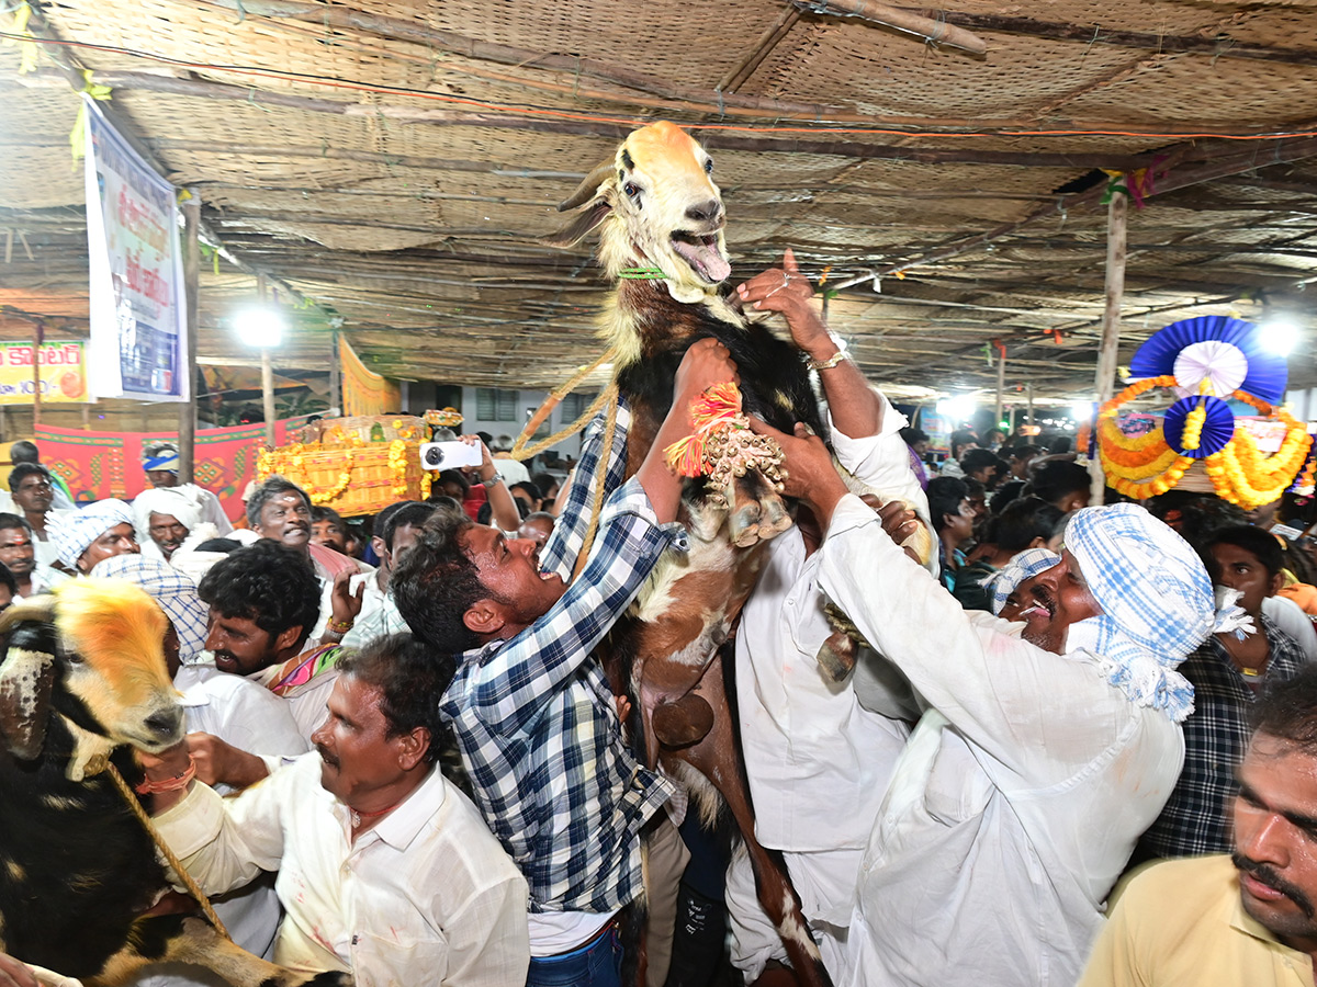
[[[207,892],[278,870],[275,962],[358,987],[525,982],[525,880],[435,766],[452,674],[410,636],[383,638],[344,659],[316,754],[233,799],[196,782],[157,796],[162,836]],[[179,745],[146,775],[187,767]]]

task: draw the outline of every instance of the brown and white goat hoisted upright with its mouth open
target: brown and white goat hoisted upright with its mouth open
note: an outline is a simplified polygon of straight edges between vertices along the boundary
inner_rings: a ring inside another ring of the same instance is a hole
[[[574,243],[598,228],[599,259],[616,282],[601,334],[618,354],[618,387],[632,415],[627,475],[644,461],[672,405],[682,355],[706,337],[731,350],[748,413],[788,433],[797,421],[823,433],[799,351],[748,322],[723,295],[731,265],[722,193],[712,159],[689,134],[669,122],[633,132],[560,208],[582,212],[549,242]],[[616,671],[610,674],[639,699],[649,763],[661,761],[697,796],[710,782],[722,794],[797,979],[819,987],[830,980],[784,861],[755,838],[723,678],[722,646],[755,584],[763,547],[792,520],[756,471],[726,491],[710,490],[706,480],[689,483],[678,520],[690,533],[690,550],[660,561],[614,629],[607,663]],[[716,811],[716,800],[702,801]]]

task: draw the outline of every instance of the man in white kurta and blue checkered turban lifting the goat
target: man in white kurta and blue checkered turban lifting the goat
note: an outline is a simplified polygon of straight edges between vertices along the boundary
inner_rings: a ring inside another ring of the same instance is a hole
[[[869,836],[843,983],[1073,983],[1180,772],[1193,691],[1175,665],[1216,620],[1202,563],[1139,507],[1089,508],[1015,587],[1013,621],[967,612],[818,440],[772,434],[827,530],[823,590],[922,711]]]

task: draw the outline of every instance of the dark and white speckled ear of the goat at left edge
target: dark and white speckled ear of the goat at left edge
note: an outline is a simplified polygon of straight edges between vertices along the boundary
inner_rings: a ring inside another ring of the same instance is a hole
[[[0,617],[0,742],[21,761],[41,754],[55,682],[54,597],[34,597]]]

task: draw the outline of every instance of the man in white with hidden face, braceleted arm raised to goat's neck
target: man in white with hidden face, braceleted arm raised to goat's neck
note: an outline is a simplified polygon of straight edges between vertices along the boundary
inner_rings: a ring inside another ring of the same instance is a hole
[[[781,312],[793,341],[819,366],[828,403],[828,430],[839,462],[856,480],[914,504],[927,519],[927,500],[910,468],[901,438],[906,417],[873,391],[859,368],[840,353],[810,304],[805,278],[792,259],[785,271],[769,270],[743,284],[743,303]],[[910,726],[900,717],[918,712],[898,708],[857,684],[878,684],[878,659],[860,653],[855,679],[838,683],[818,662],[832,634],[818,572],[822,533],[807,512],[768,546],[766,559],[736,636],[736,699],[740,738],[755,803],[760,844],[781,850],[805,916],[819,940],[823,965],[835,980],[848,970],[847,926],[856,879],[877,819],[892,769]],[[936,553],[928,553],[936,571]],[[749,861],[739,855],[727,879],[734,936],[732,962],[753,982],[768,961],[785,962],[781,937],[763,912]]]

